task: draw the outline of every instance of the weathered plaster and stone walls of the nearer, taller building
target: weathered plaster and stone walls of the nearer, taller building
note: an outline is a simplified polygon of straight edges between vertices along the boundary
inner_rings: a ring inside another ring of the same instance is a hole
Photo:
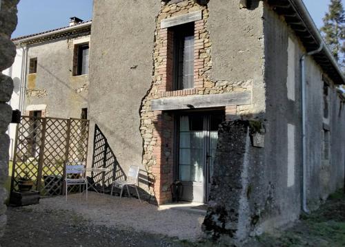
[[[221,111],[226,121],[218,132],[204,230],[214,239],[238,242],[301,213],[299,61],[306,47],[268,1],[248,1],[246,8],[239,1],[203,2],[95,1],[90,120],[124,171],[141,166],[146,179],[139,186],[163,204],[177,179],[177,118]],[[173,28],[181,23],[194,27],[194,85],[175,90]],[[316,56],[307,56],[306,75],[306,197],[313,209],[344,183],[344,97],[335,89],[344,81]]]

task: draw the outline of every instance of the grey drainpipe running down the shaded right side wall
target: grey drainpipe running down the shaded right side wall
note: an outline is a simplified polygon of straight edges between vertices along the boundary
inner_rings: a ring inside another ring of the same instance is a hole
[[[319,49],[303,54],[301,58],[301,105],[302,105],[302,210],[309,213],[306,205],[306,56],[312,56],[324,49],[322,42]]]

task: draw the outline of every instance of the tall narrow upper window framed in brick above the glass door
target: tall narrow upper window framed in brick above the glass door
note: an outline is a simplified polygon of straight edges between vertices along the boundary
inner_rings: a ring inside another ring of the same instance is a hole
[[[172,89],[181,90],[194,87],[194,22],[172,28],[173,76]]]

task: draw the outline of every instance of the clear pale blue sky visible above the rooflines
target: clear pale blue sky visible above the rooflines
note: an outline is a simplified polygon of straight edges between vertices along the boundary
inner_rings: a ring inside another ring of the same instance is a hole
[[[318,28],[322,26],[322,17],[328,10],[329,2],[330,0],[304,0]],[[345,6],[345,0],[343,3]],[[68,25],[70,17],[91,19],[92,0],[21,0],[17,30],[12,37],[61,28]]]

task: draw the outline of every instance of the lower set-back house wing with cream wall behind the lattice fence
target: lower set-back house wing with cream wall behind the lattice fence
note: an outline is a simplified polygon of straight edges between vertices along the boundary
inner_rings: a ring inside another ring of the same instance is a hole
[[[3,72],[14,81],[12,109],[26,116],[87,117],[90,30],[91,21],[72,17],[67,27],[12,39],[17,55]],[[10,124],[10,159],[15,131]]]

